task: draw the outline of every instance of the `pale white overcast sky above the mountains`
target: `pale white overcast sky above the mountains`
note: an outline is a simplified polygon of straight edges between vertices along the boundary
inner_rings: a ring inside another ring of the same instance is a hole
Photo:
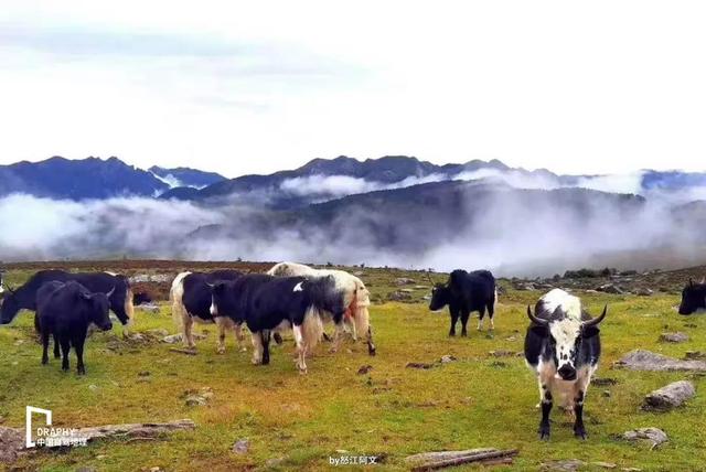
[[[706,168],[703,2],[469,3],[3,2],[0,163]]]

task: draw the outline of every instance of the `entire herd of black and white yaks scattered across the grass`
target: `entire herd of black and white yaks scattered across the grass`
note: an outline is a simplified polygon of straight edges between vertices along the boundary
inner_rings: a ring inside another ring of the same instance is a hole
[[[470,313],[479,312],[479,330],[488,312],[491,329],[498,291],[488,270],[454,270],[446,283],[432,288],[429,309],[449,307],[451,329],[458,320],[461,335],[467,334]],[[270,337],[281,343],[279,333],[293,332],[297,367],[307,372],[306,357],[322,337],[324,322],[334,325],[332,351],[345,332],[354,340],[365,337],[368,354],[375,355],[370,324],[370,292],[363,281],[343,270],[314,269],[295,262],[280,262],[267,273],[242,273],[235,270],[182,272],[172,282],[172,315],[182,340],[194,348],[194,322],[215,323],[217,351],[225,351],[225,335],[235,331],[242,342],[240,326],[247,325],[253,342],[253,363],[269,363]],[[10,289],[0,275],[0,324],[10,323],[22,310],[35,312],[34,325],[42,341],[42,364],[49,362],[50,336],[54,357],[62,357],[68,371],[68,353],[74,347],[78,374],[85,374],[83,358],[88,326],[110,330],[111,310],[124,326],[133,318],[133,294],[125,276],[109,272],[74,273],[42,270],[26,283]],[[689,280],[682,292],[678,312],[692,314],[706,310],[706,283]],[[608,307],[592,318],[581,300],[560,289],[544,294],[534,308],[527,307],[530,325],[525,335],[525,360],[534,371],[542,409],[541,439],[549,438],[549,412],[554,400],[575,414],[574,432],[586,438],[584,399],[600,358],[599,324]],[[60,353],[61,347],[61,353]]]

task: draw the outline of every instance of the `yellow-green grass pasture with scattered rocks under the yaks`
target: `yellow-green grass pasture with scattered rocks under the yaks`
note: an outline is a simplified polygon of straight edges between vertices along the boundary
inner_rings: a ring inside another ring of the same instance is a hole
[[[393,291],[395,277],[425,280],[418,273],[363,269],[374,299]],[[29,272],[11,271],[20,282]],[[428,285],[428,282],[427,282]],[[676,294],[623,297],[581,294],[589,311],[603,303],[609,314],[601,324],[603,357],[597,376],[618,383],[592,386],[586,403],[587,441],[574,438],[571,423],[553,411],[549,442],[537,440],[537,387],[520,356],[494,357],[491,351],[521,352],[527,325],[525,307],[541,292],[509,290],[499,301],[495,331],[475,330],[469,337],[448,337],[449,317],[430,313],[416,289],[414,303],[378,302],[372,307],[377,356],[363,343],[347,342],[338,354],[320,345],[300,375],[293,364],[290,337],[274,347],[269,366],[255,367],[248,352],[238,352],[234,339],[227,353],[215,353],[215,329],[199,342],[199,355],[170,352],[170,345],[125,341],[120,329],[94,334],[87,342],[87,375],[65,374],[61,363],[40,364],[32,315],[22,312],[0,328],[0,417],[3,426],[22,427],[24,407],[49,408],[54,426],[193,419],[193,431],[156,441],[106,440],[68,452],[43,451],[13,464],[19,470],[139,471],[159,466],[169,471],[320,470],[330,457],[377,455],[381,470],[405,470],[406,455],[434,450],[494,447],[516,448],[512,466],[495,470],[536,470],[542,462],[580,459],[605,461],[643,471],[706,469],[706,387],[704,377],[685,373],[637,373],[612,369],[624,353],[648,348],[682,357],[706,347],[706,317],[680,317]],[[135,332],[153,329],[174,332],[169,307],[159,314],[138,311]],[[199,332],[201,331],[201,325]],[[330,331],[330,329],[329,329]],[[682,331],[683,344],[659,342],[660,333]],[[442,355],[456,362],[430,369],[407,368],[409,362],[437,363]],[[72,354],[73,356],[73,354]],[[359,375],[361,366],[371,365]],[[146,374],[149,372],[149,374]],[[689,378],[697,396],[687,406],[666,414],[641,410],[649,391]],[[188,407],[184,393],[208,387],[208,405]],[[609,395],[609,396],[608,396]],[[670,436],[656,450],[613,438],[625,430],[654,426]],[[249,450],[232,451],[247,438]],[[342,452],[345,451],[345,452]],[[270,461],[276,460],[276,461]],[[267,462],[270,465],[266,465]],[[1,465],[0,465],[1,466]],[[343,469],[343,468],[342,468]],[[458,468],[458,470],[473,468]],[[599,470],[589,465],[587,470]]]

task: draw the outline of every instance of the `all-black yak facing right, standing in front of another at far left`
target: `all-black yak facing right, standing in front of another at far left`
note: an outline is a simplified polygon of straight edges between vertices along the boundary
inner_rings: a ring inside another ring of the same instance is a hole
[[[54,336],[54,357],[62,348],[62,369],[68,371],[68,352],[76,352],[76,371],[86,374],[84,365],[84,343],[88,324],[94,323],[103,331],[113,329],[108,309],[114,290],[107,293],[92,293],[76,281],[44,283],[36,292],[36,320],[42,337],[42,364],[49,362],[49,336]]]

